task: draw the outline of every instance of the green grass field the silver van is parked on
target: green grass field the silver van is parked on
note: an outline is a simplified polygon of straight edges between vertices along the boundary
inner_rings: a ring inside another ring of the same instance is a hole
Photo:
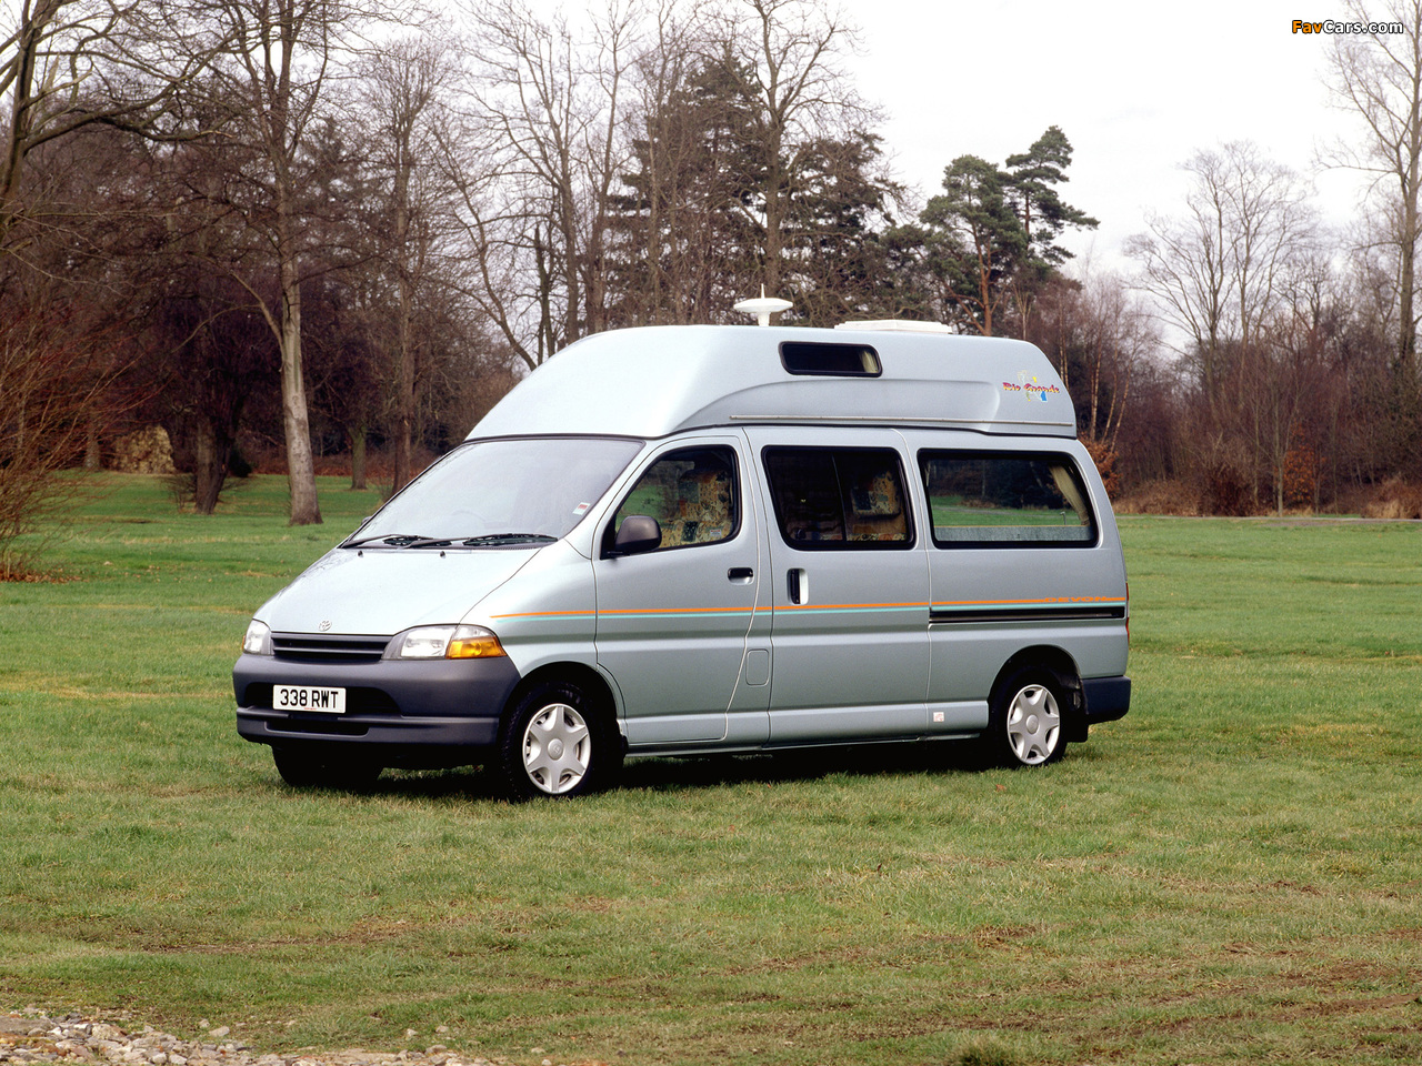
[[[1422,1060],[1422,527],[1122,520],[1135,696],[1059,765],[953,750],[287,789],[250,613],[375,506],[108,478],[0,586],[0,1011],[256,1048],[616,1063]]]

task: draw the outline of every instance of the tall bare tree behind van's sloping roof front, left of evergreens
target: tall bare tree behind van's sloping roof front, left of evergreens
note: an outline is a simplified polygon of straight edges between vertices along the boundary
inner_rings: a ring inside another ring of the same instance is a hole
[[[574,28],[523,0],[471,4],[475,149],[454,152],[481,306],[536,367],[606,323],[611,190],[624,169],[636,9],[611,0]],[[584,43],[586,40],[586,43]],[[481,135],[482,134],[482,135]],[[532,279],[510,300],[515,276]],[[535,338],[528,340],[529,320]]]

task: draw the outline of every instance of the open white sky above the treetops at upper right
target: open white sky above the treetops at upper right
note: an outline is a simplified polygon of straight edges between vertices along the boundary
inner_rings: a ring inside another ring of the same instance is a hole
[[[1291,33],[1294,18],[1341,18],[1337,0],[842,3],[863,45],[846,65],[887,111],[899,179],[931,196],[956,156],[1001,165],[1058,125],[1074,149],[1064,199],[1101,220],[1064,243],[1101,266],[1126,267],[1121,244],[1146,212],[1180,210],[1180,162],[1226,141],[1314,178],[1327,222],[1362,199],[1355,172],[1315,165],[1315,146],[1362,142],[1361,121],[1328,105],[1332,37]]]

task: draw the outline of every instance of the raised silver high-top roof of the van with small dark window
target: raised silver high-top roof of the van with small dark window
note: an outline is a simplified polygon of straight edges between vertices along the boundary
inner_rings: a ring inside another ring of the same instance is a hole
[[[755,422],[1076,436],[1071,397],[1025,341],[755,325],[584,337],[520,381],[469,436],[660,438]]]

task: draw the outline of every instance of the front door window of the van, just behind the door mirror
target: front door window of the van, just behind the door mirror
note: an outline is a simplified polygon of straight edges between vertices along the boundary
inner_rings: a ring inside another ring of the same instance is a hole
[[[661,526],[661,547],[729,540],[739,524],[735,453],[729,448],[685,448],[647,468],[607,530],[610,546],[629,515],[650,515]]]

